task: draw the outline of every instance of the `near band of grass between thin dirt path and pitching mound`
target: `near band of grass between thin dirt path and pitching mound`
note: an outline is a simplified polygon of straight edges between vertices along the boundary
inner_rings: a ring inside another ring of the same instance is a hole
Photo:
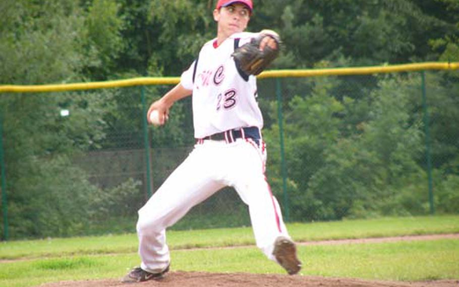
[[[302,275],[378,280],[459,278],[459,241],[396,242],[362,245],[299,246]],[[173,270],[277,273],[284,271],[266,260],[255,247],[176,250]],[[199,258],[199,260],[196,260]],[[60,280],[121,278],[137,265],[136,254],[63,257],[3,263],[0,286],[35,286]]]

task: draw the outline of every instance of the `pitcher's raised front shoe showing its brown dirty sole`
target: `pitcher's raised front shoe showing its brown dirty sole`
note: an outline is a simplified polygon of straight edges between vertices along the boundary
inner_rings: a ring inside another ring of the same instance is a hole
[[[274,242],[274,251],[272,252],[277,262],[290,275],[297,274],[301,270],[301,261],[297,257],[297,248],[295,243],[287,237],[279,236]]]

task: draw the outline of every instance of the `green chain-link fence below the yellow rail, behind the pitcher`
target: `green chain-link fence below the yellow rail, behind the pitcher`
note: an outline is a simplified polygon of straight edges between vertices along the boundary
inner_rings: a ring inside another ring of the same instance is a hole
[[[284,218],[457,213],[457,79],[259,79],[267,177]],[[4,238],[134,232],[137,210],[194,145],[190,98],[164,127],[146,124],[148,105],[170,87],[1,94]],[[244,225],[248,209],[228,187],[172,228]]]

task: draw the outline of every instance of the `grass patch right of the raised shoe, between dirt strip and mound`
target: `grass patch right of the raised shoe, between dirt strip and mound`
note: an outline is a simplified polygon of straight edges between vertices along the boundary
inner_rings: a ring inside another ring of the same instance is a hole
[[[388,280],[459,278],[459,240],[317,246],[302,255],[314,259],[307,272]]]

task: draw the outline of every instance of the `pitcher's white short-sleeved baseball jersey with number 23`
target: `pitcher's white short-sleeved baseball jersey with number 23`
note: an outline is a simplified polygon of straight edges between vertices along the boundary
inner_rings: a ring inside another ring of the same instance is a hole
[[[256,102],[257,82],[236,68],[231,54],[235,39],[239,46],[256,33],[236,33],[217,46],[216,39],[202,47],[199,57],[182,74],[181,84],[193,90],[195,138],[247,126],[263,127],[263,117]],[[194,81],[193,81],[194,79]]]

